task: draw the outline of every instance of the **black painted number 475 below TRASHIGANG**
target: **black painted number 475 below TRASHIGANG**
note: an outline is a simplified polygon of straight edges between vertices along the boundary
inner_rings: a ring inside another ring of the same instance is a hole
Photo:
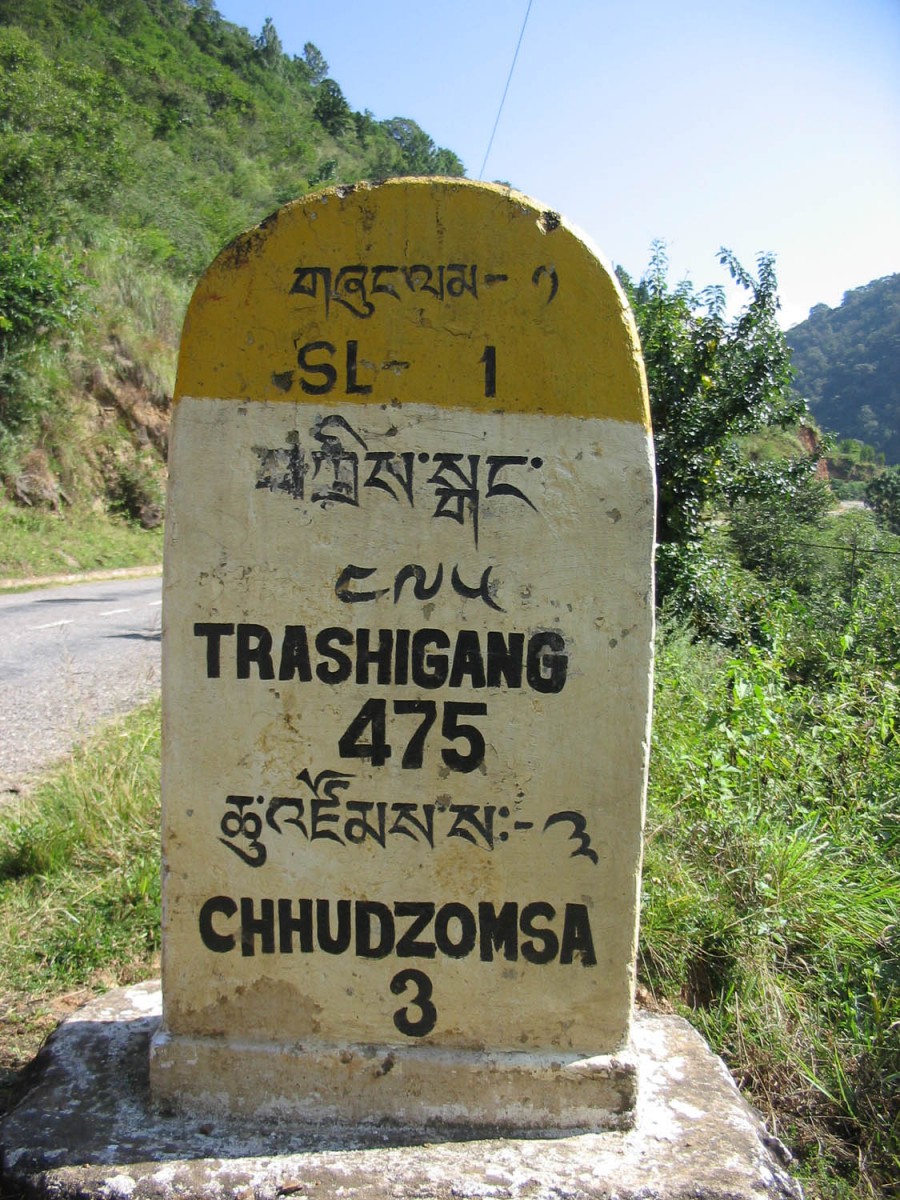
[[[438,718],[433,700],[395,700],[394,716],[418,716],[419,724],[406,744],[400,766],[418,770],[425,756],[425,740]],[[443,704],[440,733],[448,742],[462,744],[445,746],[440,757],[451,770],[476,770],[485,761],[485,736],[476,726],[461,721],[462,716],[486,716],[487,704],[449,700]],[[342,758],[368,758],[373,767],[383,767],[394,755],[388,742],[388,701],[367,700],[356,713],[337,743]]]

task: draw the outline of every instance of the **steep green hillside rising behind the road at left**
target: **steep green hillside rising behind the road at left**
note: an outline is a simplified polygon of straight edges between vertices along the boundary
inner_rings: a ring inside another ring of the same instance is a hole
[[[158,505],[184,307],[232,236],[331,180],[461,175],[353,112],[311,43],[212,0],[0,0],[0,475]]]

